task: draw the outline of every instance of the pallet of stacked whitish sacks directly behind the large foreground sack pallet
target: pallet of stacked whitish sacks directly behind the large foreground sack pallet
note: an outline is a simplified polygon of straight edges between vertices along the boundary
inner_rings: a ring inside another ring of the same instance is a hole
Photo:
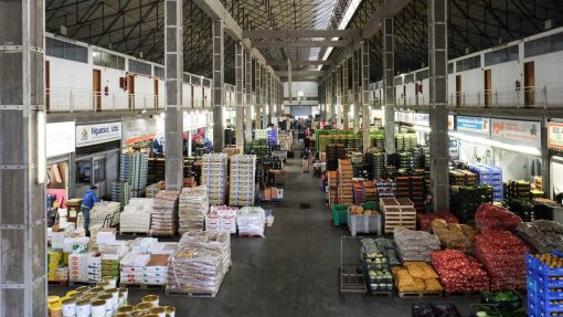
[[[184,188],[180,193],[178,207],[178,232],[203,230],[209,211],[206,189],[203,187]]]

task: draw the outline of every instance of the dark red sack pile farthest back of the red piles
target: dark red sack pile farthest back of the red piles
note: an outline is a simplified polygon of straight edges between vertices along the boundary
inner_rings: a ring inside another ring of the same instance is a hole
[[[508,230],[513,231],[522,219],[504,208],[490,203],[484,203],[475,214],[477,229],[484,230]]]

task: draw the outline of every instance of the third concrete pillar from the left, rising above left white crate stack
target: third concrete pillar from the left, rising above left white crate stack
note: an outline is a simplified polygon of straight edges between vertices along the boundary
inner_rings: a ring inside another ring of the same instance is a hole
[[[213,20],[213,151],[225,147],[223,105],[225,104],[225,30],[223,20]]]

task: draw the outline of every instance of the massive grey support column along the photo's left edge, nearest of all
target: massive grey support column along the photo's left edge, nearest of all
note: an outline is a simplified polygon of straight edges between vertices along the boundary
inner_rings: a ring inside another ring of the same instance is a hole
[[[0,1],[0,316],[47,316],[44,1]]]

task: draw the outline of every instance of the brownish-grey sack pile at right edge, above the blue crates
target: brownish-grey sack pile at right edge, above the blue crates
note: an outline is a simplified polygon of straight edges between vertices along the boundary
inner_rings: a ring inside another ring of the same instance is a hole
[[[540,253],[563,250],[563,225],[555,221],[523,222],[517,226],[516,234]]]

